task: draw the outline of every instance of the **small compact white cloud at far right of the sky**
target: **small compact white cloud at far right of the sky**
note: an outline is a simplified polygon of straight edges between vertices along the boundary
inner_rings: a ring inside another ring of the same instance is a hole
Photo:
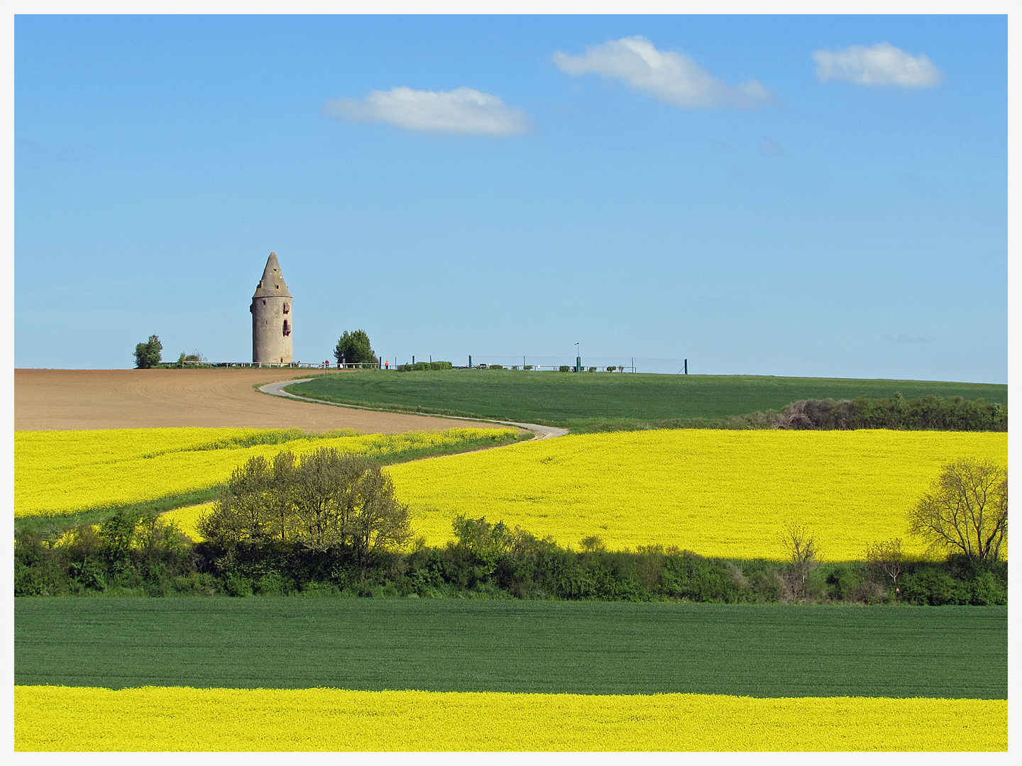
[[[872,48],[852,45],[832,53],[812,53],[820,82],[844,80],[854,85],[900,85],[905,88],[932,88],[943,77],[925,55],[912,56],[890,43]]]

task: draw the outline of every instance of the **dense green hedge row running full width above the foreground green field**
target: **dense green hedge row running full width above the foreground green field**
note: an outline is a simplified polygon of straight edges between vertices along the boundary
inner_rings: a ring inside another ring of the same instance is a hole
[[[792,566],[706,559],[689,550],[580,552],[484,519],[460,518],[456,540],[379,553],[368,563],[343,546],[262,541],[193,543],[173,525],[119,512],[98,527],[15,536],[14,594],[260,595],[335,593],[420,597],[564,599],[843,604],[1007,604],[1008,565],[962,559],[908,563],[896,582],[862,562],[824,564],[798,582]],[[797,594],[797,595],[796,595]]]

